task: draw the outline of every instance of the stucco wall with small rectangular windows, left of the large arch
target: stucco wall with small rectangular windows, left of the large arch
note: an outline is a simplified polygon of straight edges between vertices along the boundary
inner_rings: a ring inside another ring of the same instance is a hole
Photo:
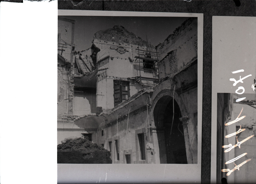
[[[104,142],[104,148],[109,150],[109,141],[112,141],[113,163],[126,163],[125,156],[124,156],[125,150],[132,150],[131,152],[132,163],[152,162],[152,159],[148,159],[147,156],[146,156],[146,160],[137,159],[138,154],[140,154],[140,150],[139,150],[136,130],[140,130],[144,128],[145,146],[147,143],[150,142],[149,134],[148,134],[147,111],[140,112],[139,114],[136,114],[136,115],[129,115],[128,129],[127,129],[127,120],[128,120],[128,116],[126,119],[122,121],[120,121],[119,119],[118,125],[115,123],[112,126],[104,128],[105,135],[100,136],[101,142]],[[126,139],[126,132],[127,132],[127,139]],[[119,137],[119,154],[120,154],[119,161],[115,159],[116,155],[115,155],[114,141],[115,139],[117,139],[117,137]],[[151,140],[153,141],[153,138],[151,138]],[[146,148],[144,149],[146,152]]]

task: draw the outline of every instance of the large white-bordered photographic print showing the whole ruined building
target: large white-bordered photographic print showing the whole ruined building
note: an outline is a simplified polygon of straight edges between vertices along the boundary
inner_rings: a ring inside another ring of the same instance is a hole
[[[66,12],[58,16],[58,180],[67,164],[120,168],[115,174],[132,167],[133,176],[156,164],[192,169],[200,181],[202,19]]]

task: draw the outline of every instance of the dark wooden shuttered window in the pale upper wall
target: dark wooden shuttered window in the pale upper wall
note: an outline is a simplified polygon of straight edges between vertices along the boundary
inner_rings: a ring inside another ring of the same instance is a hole
[[[114,106],[130,97],[129,81],[114,81]]]

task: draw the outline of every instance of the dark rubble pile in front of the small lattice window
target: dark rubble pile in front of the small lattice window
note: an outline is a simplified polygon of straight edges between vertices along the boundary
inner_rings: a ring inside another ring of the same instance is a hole
[[[77,138],[57,146],[58,164],[111,164],[110,152],[96,143]]]

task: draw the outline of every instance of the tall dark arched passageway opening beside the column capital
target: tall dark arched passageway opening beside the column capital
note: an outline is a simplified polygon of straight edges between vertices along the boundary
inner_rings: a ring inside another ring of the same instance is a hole
[[[174,112],[174,113],[173,113]],[[173,116],[174,114],[174,116]],[[161,97],[154,108],[160,163],[187,164],[182,117],[178,103],[171,96]]]

